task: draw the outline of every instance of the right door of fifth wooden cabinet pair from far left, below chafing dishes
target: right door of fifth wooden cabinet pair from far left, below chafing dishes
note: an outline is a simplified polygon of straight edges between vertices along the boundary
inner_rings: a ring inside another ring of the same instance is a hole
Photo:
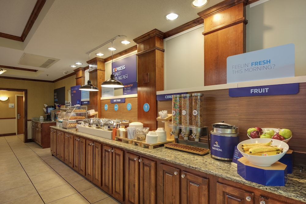
[[[101,187],[102,145],[95,142],[93,145],[93,151],[93,182],[98,187]]]

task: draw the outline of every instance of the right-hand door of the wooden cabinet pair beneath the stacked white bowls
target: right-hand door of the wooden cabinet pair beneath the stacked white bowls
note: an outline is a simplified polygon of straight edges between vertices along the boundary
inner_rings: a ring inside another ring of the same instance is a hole
[[[140,203],[156,203],[156,161],[140,157]]]

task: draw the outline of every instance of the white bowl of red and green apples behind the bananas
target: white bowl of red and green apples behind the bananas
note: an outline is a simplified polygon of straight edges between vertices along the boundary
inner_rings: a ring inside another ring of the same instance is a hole
[[[270,138],[278,139],[287,143],[292,138],[292,132],[289,129],[285,128],[249,128],[248,129],[248,138]]]

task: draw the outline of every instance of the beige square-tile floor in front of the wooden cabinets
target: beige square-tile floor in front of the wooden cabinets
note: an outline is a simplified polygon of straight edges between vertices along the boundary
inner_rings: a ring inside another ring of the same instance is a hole
[[[23,135],[0,137],[0,203],[118,203]]]

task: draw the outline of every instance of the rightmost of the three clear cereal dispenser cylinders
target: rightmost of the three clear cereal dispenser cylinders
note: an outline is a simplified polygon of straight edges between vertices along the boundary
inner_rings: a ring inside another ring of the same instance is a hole
[[[192,125],[195,127],[203,127],[204,123],[204,94],[192,94]]]

